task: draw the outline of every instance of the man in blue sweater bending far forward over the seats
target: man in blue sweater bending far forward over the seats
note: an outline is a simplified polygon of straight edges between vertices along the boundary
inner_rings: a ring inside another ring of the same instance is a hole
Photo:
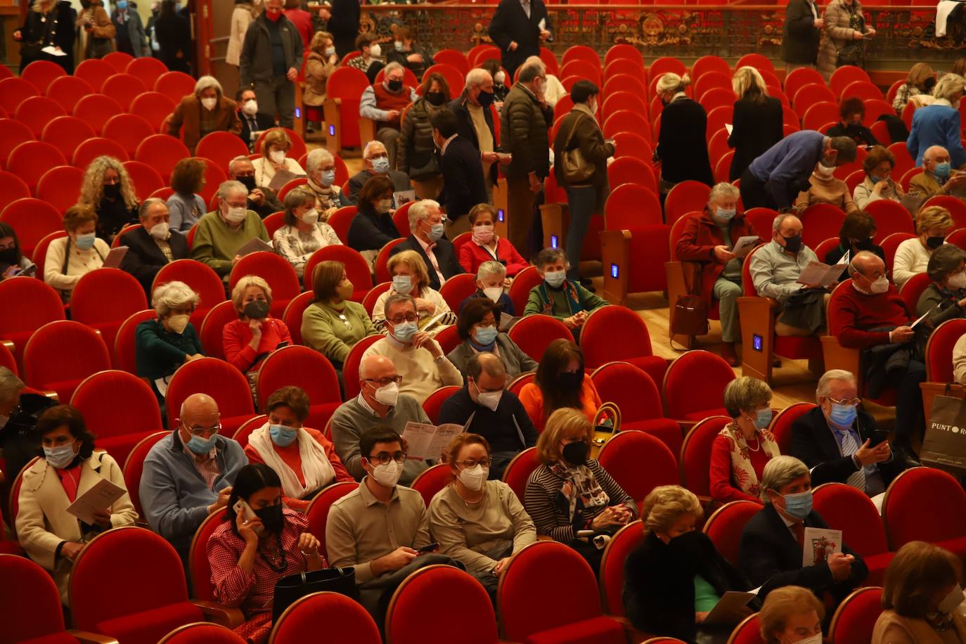
[[[742,175],[745,210],[790,210],[798,193],[809,189],[818,163],[838,167],[854,161],[855,154],[855,141],[847,136],[828,137],[811,129],[789,134],[754,159]]]

